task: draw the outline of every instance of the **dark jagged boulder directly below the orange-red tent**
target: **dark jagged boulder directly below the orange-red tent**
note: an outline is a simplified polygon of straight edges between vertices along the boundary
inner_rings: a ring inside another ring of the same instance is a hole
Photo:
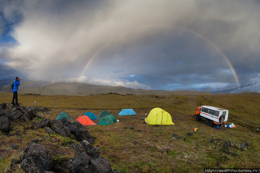
[[[67,127],[70,129],[70,133],[74,135],[75,140],[87,140],[90,144],[94,144],[95,140],[91,138],[88,130],[79,121],[69,123]]]

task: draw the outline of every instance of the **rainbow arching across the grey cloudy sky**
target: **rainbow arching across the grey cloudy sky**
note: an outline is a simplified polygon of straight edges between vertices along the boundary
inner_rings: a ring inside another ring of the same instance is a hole
[[[240,89],[240,86],[239,86],[239,80],[238,80],[238,76],[235,72],[235,69],[234,67],[232,66],[232,64],[230,63],[229,59],[226,57],[226,55],[215,45],[213,44],[211,41],[209,41],[207,38],[203,37],[202,35],[194,32],[194,31],[190,31],[188,29],[183,29],[183,28],[180,28],[180,27],[173,27],[173,26],[158,26],[158,25],[154,25],[154,26],[146,26],[146,27],[141,27],[141,28],[138,28],[138,29],[143,29],[143,28],[151,28],[151,27],[169,27],[169,28],[177,28],[177,29],[181,29],[183,31],[187,31],[187,32],[190,32],[192,34],[195,34],[196,36],[202,38],[203,40],[205,40],[206,42],[208,42],[213,48],[215,48],[221,55],[222,57],[224,58],[224,60],[226,61],[226,63],[228,64],[229,68],[231,69],[234,77],[235,77],[235,80],[236,80],[236,83],[237,83],[237,86],[239,87]],[[109,42],[108,42],[109,43]],[[108,44],[107,43],[107,44]],[[91,61],[96,57],[96,55],[105,47],[107,46],[107,44],[105,44],[104,46],[102,46],[91,58],[90,60],[88,61],[88,63],[86,64],[86,66],[84,67],[82,73],[81,73],[81,76],[83,76],[83,74],[85,73],[86,69],[88,68],[88,66],[90,65]]]

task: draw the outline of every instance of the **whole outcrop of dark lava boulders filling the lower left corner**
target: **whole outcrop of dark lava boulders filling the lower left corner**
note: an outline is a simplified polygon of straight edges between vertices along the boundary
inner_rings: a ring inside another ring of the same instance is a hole
[[[8,104],[9,105],[9,104]],[[11,106],[6,107],[5,104],[1,104],[0,107],[0,131],[9,133],[11,131],[11,122],[17,121],[29,121],[38,117],[37,111],[41,111],[40,108],[34,106]],[[48,109],[45,108],[44,111]],[[2,111],[2,112],[1,112]],[[37,115],[37,116],[36,116]],[[46,147],[38,144],[39,140],[31,140],[28,146],[23,150],[23,155],[19,160],[13,159],[10,164],[10,168],[6,168],[5,172],[16,171],[17,163],[20,163],[20,168],[25,173],[52,173],[52,172],[93,172],[93,173],[115,173],[112,170],[109,160],[100,155],[99,147],[95,147],[95,140],[91,138],[90,133],[79,121],[70,122],[66,118],[62,120],[51,120],[44,116],[39,116],[42,121],[38,122],[38,119],[30,124],[27,129],[38,130],[44,128],[47,133],[58,133],[63,137],[70,137],[72,133],[74,138],[80,143],[75,144],[71,142],[70,145],[74,147],[76,154],[69,160],[62,159],[62,164],[53,160],[52,154],[54,151],[48,151]],[[23,123],[21,122],[21,125]],[[24,132],[27,130],[24,129]],[[17,132],[16,134],[21,133]],[[47,137],[47,136],[45,136]],[[22,138],[22,137],[21,137]],[[19,144],[12,144],[13,150],[19,150],[21,146]],[[1,146],[1,145],[0,145]],[[57,147],[57,145],[56,145]],[[56,157],[56,156],[55,156]],[[68,170],[64,170],[64,168]]]

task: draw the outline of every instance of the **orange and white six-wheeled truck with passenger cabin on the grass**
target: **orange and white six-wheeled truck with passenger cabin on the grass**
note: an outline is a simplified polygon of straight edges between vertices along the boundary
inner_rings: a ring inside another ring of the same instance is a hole
[[[229,116],[229,110],[213,106],[200,106],[195,111],[196,120],[205,121],[205,125],[213,127],[215,124],[225,124]]]

